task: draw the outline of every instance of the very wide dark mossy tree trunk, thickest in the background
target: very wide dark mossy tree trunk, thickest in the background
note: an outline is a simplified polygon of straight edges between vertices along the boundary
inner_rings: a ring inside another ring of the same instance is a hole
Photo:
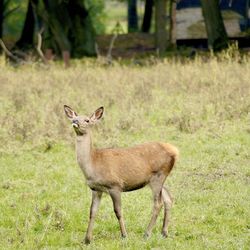
[[[47,12],[47,15],[41,14],[46,24],[47,54],[51,55],[50,49],[59,48],[64,58],[69,57],[67,51],[72,57],[96,56],[95,31],[84,2],[82,0],[57,0],[57,3],[43,1]]]

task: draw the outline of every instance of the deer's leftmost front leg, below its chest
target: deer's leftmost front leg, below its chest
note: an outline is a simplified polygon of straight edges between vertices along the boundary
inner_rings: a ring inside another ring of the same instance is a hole
[[[85,237],[85,244],[89,244],[92,239],[94,220],[95,220],[96,212],[100,205],[101,198],[102,198],[102,192],[92,191],[92,203],[90,207],[89,225],[88,225],[88,229],[87,229],[87,233]]]

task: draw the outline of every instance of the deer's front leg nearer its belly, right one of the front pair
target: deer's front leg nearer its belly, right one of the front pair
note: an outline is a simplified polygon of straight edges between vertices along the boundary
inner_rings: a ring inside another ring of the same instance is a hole
[[[126,228],[125,228],[125,224],[124,224],[124,220],[123,220],[123,216],[121,212],[121,192],[116,189],[111,189],[109,191],[109,194],[113,201],[115,215],[120,224],[121,235],[123,238],[125,238],[127,236],[127,232],[126,232]]]

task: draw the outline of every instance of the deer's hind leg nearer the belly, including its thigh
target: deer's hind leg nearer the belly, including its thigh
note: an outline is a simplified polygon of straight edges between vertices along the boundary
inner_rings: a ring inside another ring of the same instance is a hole
[[[156,219],[163,206],[162,187],[163,187],[163,183],[165,179],[166,179],[166,176],[163,173],[157,173],[151,178],[149,182],[149,186],[152,189],[152,193],[153,193],[154,204],[153,204],[151,219],[148,224],[147,230],[145,232],[145,237],[150,236],[153,226],[155,225]]]

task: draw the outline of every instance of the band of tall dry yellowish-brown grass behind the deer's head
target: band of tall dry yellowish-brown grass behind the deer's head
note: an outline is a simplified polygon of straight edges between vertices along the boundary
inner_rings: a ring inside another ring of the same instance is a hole
[[[202,128],[220,130],[227,121],[247,117],[249,64],[248,60],[204,63],[197,59],[108,68],[85,62],[67,71],[60,66],[48,70],[4,67],[0,74],[0,140],[10,148],[17,143],[68,141],[72,134],[63,104],[87,114],[104,105],[105,124],[100,129],[108,138],[152,126],[167,130],[172,126],[187,133]],[[108,142],[116,145],[112,137]],[[107,143],[107,138],[98,140]]]

